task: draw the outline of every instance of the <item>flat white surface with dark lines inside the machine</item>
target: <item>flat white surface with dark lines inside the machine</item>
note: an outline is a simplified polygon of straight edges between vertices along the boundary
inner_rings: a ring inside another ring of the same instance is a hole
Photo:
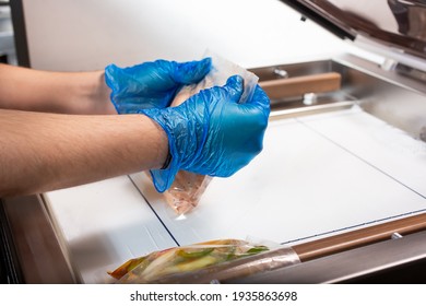
[[[214,178],[185,216],[145,174],[131,179],[46,195],[84,282],[176,243],[251,236],[292,245],[423,212],[426,144],[353,107],[271,121],[263,152]]]

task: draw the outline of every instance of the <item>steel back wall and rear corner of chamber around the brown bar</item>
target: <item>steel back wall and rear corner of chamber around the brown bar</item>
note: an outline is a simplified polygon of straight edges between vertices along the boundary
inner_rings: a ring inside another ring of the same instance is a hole
[[[394,70],[384,70],[374,62],[343,55],[331,60],[299,62],[285,66],[251,69],[259,81],[275,80],[276,69],[285,70],[288,76],[338,72],[342,75],[341,90],[321,93],[316,104],[304,103],[304,96],[274,99],[274,114],[299,116],[305,111],[324,111],[359,105],[365,111],[400,128],[416,139],[424,139],[426,129],[426,83],[406,78]]]

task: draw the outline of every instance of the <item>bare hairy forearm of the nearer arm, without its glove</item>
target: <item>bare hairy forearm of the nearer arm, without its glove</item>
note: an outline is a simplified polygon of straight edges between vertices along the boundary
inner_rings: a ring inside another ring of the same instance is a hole
[[[158,168],[168,145],[147,117],[0,110],[0,197]]]

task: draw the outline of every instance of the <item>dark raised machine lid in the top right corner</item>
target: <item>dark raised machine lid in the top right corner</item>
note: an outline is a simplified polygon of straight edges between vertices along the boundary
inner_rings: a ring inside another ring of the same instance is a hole
[[[426,58],[426,0],[281,0],[341,38],[368,37]]]

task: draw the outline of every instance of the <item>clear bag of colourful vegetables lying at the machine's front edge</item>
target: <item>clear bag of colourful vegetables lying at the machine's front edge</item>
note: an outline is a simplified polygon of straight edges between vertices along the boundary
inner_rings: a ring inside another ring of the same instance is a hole
[[[299,262],[289,247],[220,239],[154,251],[108,272],[117,283],[210,283]]]

